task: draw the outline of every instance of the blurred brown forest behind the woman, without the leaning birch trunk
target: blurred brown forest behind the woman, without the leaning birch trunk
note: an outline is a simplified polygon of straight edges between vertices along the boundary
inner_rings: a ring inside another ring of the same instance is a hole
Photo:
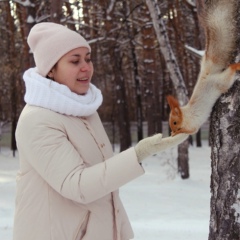
[[[158,41],[147,2],[154,3],[157,21],[164,24],[166,32],[160,34],[168,37],[166,46]],[[166,131],[166,96],[178,94],[168,67],[171,62],[177,67],[173,71],[182,75],[186,97],[191,96],[200,59],[186,45],[204,47],[194,0],[0,0],[0,137],[10,123],[13,150],[24,106],[22,75],[34,66],[26,39],[31,27],[44,21],[61,23],[89,41],[95,67],[92,81],[104,95],[99,113],[111,141],[120,142],[121,150]],[[173,60],[164,57],[163,49],[172,51]],[[200,132],[198,136],[201,145]]]

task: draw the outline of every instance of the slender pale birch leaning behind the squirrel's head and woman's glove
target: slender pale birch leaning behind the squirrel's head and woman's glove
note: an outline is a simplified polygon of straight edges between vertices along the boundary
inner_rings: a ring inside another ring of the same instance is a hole
[[[160,45],[161,53],[166,61],[167,68],[169,70],[177,98],[181,105],[188,102],[188,93],[185,86],[182,74],[180,72],[177,60],[174,56],[171,44],[167,35],[163,16],[158,6],[157,0],[146,0],[146,4],[149,8],[150,15],[152,17],[156,37]],[[189,177],[188,167],[188,140],[183,142],[178,147],[178,171],[182,178]]]

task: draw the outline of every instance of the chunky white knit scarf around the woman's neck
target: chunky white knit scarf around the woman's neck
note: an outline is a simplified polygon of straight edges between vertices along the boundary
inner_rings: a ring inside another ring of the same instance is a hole
[[[102,93],[93,84],[85,95],[78,95],[67,86],[42,77],[36,68],[25,71],[23,79],[26,85],[24,100],[29,105],[83,117],[93,114],[102,104]]]

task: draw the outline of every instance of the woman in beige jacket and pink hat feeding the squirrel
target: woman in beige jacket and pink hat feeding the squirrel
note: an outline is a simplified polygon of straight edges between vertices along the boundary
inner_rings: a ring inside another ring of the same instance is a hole
[[[16,130],[20,158],[14,240],[127,240],[133,232],[118,188],[144,174],[139,164],[187,138],[140,141],[113,156],[97,114],[91,48],[78,33],[39,23],[28,44],[36,68],[23,76]]]

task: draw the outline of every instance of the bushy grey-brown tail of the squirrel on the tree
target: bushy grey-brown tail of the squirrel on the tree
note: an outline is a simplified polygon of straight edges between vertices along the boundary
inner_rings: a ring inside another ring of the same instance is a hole
[[[205,57],[220,68],[232,61],[238,41],[238,0],[206,0],[201,6],[199,20],[205,31]]]

